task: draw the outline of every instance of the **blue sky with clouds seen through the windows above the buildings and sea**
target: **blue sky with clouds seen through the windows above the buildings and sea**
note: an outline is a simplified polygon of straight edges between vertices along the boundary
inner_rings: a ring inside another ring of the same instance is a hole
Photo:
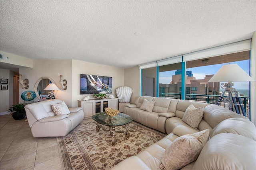
[[[236,61],[236,62],[230,62],[230,64],[238,64],[247,74],[249,74],[249,60],[243,60],[243,61]],[[215,74],[223,65],[226,65],[229,63],[223,63],[223,64],[215,64],[210,66],[200,66],[195,68],[188,68],[187,71],[192,71],[193,76],[196,78],[196,80],[204,79],[205,75],[209,74]],[[172,75],[175,75],[175,71],[166,71],[166,72],[160,72],[159,73],[159,83],[162,84],[169,84],[172,80]],[[234,86],[233,88],[236,88],[236,90],[248,90],[249,89],[249,82],[233,82]]]

